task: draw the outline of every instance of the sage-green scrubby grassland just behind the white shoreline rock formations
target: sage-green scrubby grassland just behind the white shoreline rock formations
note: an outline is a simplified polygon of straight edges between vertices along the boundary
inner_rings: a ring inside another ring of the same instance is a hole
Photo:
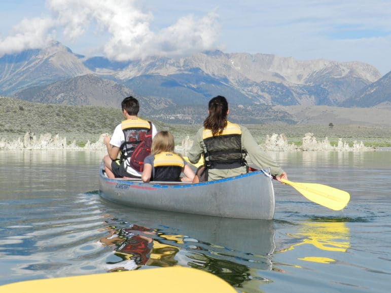
[[[0,138],[10,140],[23,137],[26,132],[35,135],[51,133],[83,145],[87,140],[96,141],[102,133],[111,134],[122,120],[119,108],[40,104],[1,96],[0,105]],[[201,126],[153,122],[159,130],[171,131],[176,144],[181,144],[186,136],[193,137]],[[391,127],[333,124],[332,128],[329,122],[317,125],[246,126],[258,143],[264,143],[267,135],[283,133],[290,143],[300,144],[305,134],[311,132],[318,140],[328,137],[329,141],[337,142],[342,138],[350,143],[363,141],[367,146],[391,146]]]

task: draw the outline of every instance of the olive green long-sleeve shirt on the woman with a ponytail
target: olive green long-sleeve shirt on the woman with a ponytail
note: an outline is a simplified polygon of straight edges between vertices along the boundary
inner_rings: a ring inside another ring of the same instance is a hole
[[[253,135],[250,131],[244,126],[240,126],[241,129],[241,145],[242,150],[246,151],[250,160],[258,168],[268,169],[270,168],[270,173],[274,176],[280,175],[283,170],[281,167],[271,159],[258,145],[255,141]],[[202,132],[204,128],[201,127],[193,140],[192,148],[189,151],[188,158],[191,163],[197,163],[201,158],[201,155],[204,153],[205,144],[202,139]],[[227,178],[231,176],[236,176],[246,173],[246,167],[239,167],[234,169],[209,169],[208,170],[208,180],[217,180],[221,178]]]

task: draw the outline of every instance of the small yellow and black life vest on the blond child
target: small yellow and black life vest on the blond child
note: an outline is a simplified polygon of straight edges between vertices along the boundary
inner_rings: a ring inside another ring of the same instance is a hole
[[[174,153],[162,152],[154,156],[154,181],[180,181],[185,162],[181,156]]]

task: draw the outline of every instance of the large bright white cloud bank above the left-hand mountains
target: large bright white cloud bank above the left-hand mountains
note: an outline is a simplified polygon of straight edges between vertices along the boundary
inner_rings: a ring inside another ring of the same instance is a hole
[[[161,31],[151,31],[153,15],[132,0],[47,0],[51,17],[24,19],[13,34],[0,39],[0,55],[43,48],[56,39],[85,37],[90,26],[109,33],[104,53],[114,60],[151,55],[180,56],[214,49],[218,39],[218,17],[208,14],[196,19],[185,16]]]

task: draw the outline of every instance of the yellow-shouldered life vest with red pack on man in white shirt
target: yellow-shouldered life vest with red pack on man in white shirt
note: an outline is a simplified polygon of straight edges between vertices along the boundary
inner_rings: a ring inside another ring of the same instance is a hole
[[[126,161],[126,166],[142,171],[145,157],[151,154],[152,124],[136,117],[122,121],[121,129],[125,136],[125,141],[120,147],[121,160]],[[144,145],[143,158],[137,158],[136,162],[133,162],[135,160],[131,160],[131,157],[134,150],[144,141],[148,141],[148,145]]]

